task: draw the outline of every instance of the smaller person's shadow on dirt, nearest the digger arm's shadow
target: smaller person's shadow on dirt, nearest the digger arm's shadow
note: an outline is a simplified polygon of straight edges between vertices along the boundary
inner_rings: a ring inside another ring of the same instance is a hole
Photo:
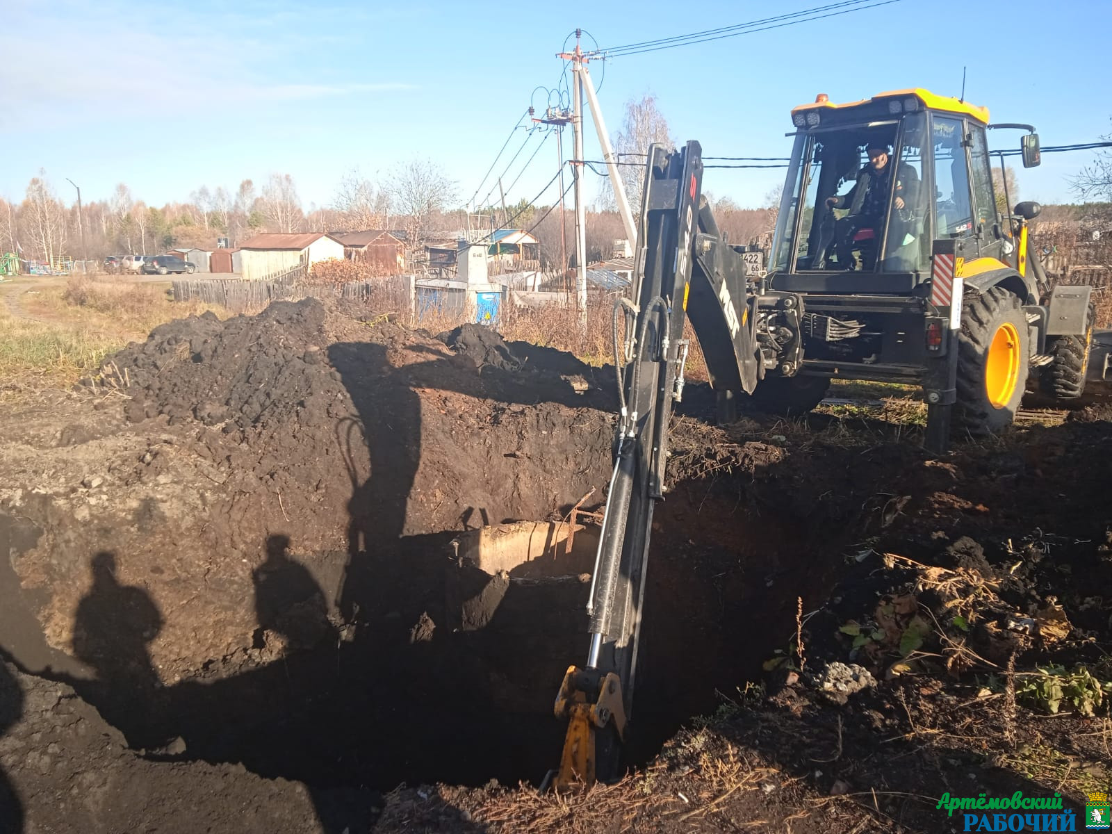
[[[305,565],[290,558],[289,546],[289,536],[267,537],[267,560],[251,572],[257,648],[266,645],[268,634],[281,636],[287,651],[297,651],[312,648],[334,633],[320,585]]]

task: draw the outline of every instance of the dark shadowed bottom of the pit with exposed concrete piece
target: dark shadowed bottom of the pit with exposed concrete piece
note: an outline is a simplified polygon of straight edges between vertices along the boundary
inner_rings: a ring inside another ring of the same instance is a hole
[[[793,633],[796,596],[824,586],[816,566],[836,562],[791,519],[708,489],[679,484],[656,515],[631,764],[756,679]],[[366,607],[342,623],[309,610],[287,557],[255,636],[265,656],[280,635],[274,659],[214,663],[166,687],[125,674],[122,659],[116,679],[62,677],[156,758],[241,763],[311,788],[537,784],[563,741],[556,688],[587,646],[597,528],[577,526],[570,548],[568,532],[505,524],[360,554],[347,582]]]

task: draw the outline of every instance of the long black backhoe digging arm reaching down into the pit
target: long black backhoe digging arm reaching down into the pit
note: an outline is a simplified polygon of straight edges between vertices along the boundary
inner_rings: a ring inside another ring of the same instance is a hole
[[[649,147],[633,298],[620,299],[615,311],[615,344],[619,312],[625,318],[615,357],[622,411],[587,608],[590,644],[586,664],[568,669],[556,699],[557,717],[568,722],[557,788],[620,776],[653,507],[665,492],[668,423],[683,390],[688,309],[709,351],[712,379],[748,390],[756,381],[744,267],[718,240],[709,210],[701,211],[702,179],[698,142],[672,153]]]

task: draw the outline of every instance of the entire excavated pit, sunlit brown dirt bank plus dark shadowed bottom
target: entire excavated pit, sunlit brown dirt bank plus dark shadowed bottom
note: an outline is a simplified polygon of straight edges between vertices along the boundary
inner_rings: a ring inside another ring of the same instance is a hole
[[[586,655],[595,534],[568,549],[567,525],[517,519],[600,495],[608,377],[311,301],[172,322],[117,368],[126,424],[63,429],[0,506],[0,635],[24,669],[152,757],[314,790],[539,783]],[[695,443],[713,466],[676,466],[654,519],[633,764],[759,676],[853,535],[813,516],[811,478],[752,493],[782,449]]]

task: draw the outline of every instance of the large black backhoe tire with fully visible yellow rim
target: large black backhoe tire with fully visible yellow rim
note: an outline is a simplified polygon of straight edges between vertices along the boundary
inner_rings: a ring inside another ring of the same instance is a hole
[[[1029,341],[1026,314],[1014,294],[997,286],[965,296],[953,421],[959,435],[983,437],[1015,420],[1030,367]],[[1004,360],[990,365],[990,348]]]

